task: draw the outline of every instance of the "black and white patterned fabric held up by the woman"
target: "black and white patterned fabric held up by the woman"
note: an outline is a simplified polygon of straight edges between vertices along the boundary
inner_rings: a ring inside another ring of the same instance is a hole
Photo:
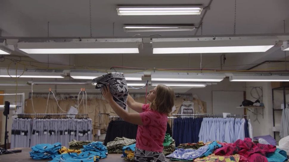
[[[128,86],[125,80],[124,73],[107,73],[105,75],[94,78],[92,82],[97,83],[96,89],[100,89],[104,85],[109,84],[109,89],[113,95],[114,101],[122,108],[126,108],[126,103],[128,101]]]

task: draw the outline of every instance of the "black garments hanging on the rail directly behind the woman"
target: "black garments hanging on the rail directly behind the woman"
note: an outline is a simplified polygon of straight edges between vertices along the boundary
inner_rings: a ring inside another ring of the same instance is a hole
[[[114,141],[116,137],[136,139],[138,125],[125,122],[123,120],[111,120],[108,124],[107,132],[104,139],[104,145],[106,146],[108,142]],[[166,133],[172,134],[169,123],[167,123]]]

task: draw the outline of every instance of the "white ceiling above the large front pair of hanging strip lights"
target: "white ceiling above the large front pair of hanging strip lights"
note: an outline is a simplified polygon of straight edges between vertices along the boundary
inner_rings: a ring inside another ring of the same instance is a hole
[[[202,4],[209,0],[91,0],[92,33],[95,37],[133,36],[126,33],[123,24],[195,24],[201,15],[118,16],[117,5],[181,5]],[[288,0],[237,0],[236,34],[282,33],[283,20],[289,22]],[[202,12],[204,13],[204,12]],[[88,0],[1,0],[0,28],[10,36],[56,37],[89,36]],[[203,20],[203,34],[233,34],[234,0],[213,0]],[[289,23],[287,23],[287,32]],[[192,35],[195,32],[142,32],[142,36]],[[199,31],[198,34],[201,34]]]

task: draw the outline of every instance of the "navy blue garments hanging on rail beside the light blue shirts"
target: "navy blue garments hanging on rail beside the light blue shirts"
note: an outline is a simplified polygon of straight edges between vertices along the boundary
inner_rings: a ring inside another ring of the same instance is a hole
[[[197,143],[203,118],[176,118],[173,125],[175,144]]]

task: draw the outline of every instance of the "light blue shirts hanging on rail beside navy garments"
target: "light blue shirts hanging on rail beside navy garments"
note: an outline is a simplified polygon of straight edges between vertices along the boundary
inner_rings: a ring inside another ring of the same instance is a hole
[[[201,124],[199,140],[233,143],[245,139],[245,119],[240,118],[204,118]]]

